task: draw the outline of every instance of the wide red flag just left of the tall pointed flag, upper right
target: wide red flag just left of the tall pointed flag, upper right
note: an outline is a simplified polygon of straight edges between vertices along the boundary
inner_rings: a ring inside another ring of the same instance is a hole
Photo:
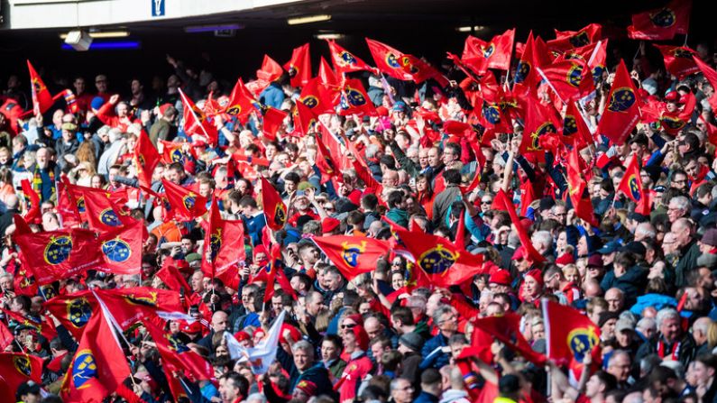
[[[538,68],[541,69],[541,68]],[[593,74],[581,60],[561,60],[541,69],[550,86],[567,103],[595,90]]]

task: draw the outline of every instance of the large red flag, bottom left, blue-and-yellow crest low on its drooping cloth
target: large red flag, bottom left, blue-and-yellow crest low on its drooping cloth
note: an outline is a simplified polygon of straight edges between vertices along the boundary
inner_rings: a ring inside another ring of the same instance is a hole
[[[65,401],[100,403],[115,392],[130,373],[115,329],[99,310],[82,335],[62,382],[60,396]]]

